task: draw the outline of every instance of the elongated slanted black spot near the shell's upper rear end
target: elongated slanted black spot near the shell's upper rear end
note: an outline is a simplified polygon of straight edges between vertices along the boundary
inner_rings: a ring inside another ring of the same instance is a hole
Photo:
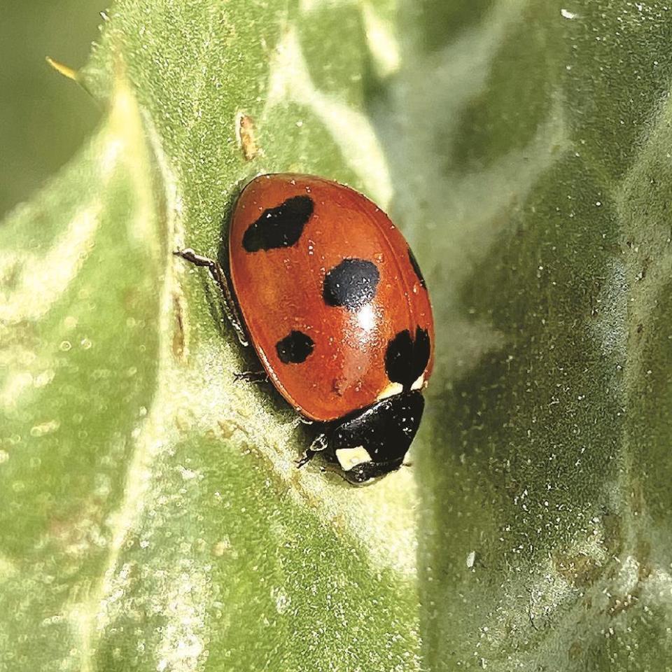
[[[258,252],[293,246],[300,239],[313,209],[311,197],[293,196],[278,207],[263,211],[246,230],[243,247],[247,252]]]

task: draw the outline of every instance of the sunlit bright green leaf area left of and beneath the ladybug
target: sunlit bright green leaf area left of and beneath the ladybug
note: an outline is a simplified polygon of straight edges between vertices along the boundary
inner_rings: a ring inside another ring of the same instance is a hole
[[[412,472],[358,491],[298,472],[293,412],[234,381],[249,357],[216,289],[172,255],[216,255],[258,172],[389,200],[364,21],[347,3],[109,13],[79,76],[109,116],[1,230],[9,666],[419,668]]]

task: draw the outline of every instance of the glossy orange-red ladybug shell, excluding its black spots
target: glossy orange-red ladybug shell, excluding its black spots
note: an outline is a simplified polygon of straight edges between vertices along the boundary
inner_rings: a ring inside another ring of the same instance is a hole
[[[306,195],[313,211],[295,244],[246,251],[246,230],[265,210]],[[428,331],[426,384],[434,349],[427,290],[404,237],[365,196],[312,176],[260,176],[235,205],[229,251],[233,290],[253,346],[273,384],[304,416],[336,419],[389,394],[386,348],[403,330]],[[352,258],[377,266],[374,297],[354,311],[327,305],[325,275]],[[276,346],[295,330],[308,335],[314,349],[302,363],[283,363]]]

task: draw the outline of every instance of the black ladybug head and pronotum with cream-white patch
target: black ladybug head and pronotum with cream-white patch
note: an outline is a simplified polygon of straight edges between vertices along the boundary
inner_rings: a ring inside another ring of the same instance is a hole
[[[421,393],[410,391],[347,416],[328,434],[326,458],[356,485],[397,470],[418,430],[424,405]]]

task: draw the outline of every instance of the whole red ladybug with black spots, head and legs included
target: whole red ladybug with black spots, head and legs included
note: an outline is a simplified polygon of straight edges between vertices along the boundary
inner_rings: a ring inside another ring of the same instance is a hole
[[[193,250],[176,254],[209,268],[262,373],[318,423],[299,465],[320,452],[353,484],[400,468],[423,412],[434,324],[414,255],[379,207],[320,177],[261,175],[232,212],[228,276]]]

